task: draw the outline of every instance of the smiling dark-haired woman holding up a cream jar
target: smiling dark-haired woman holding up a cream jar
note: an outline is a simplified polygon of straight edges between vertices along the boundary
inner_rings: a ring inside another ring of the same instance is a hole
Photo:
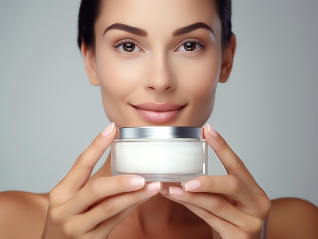
[[[299,199],[270,202],[210,125],[205,138],[226,176],[182,187],[146,183],[111,176],[109,159],[91,176],[116,127],[205,124],[217,82],[226,82],[232,69],[230,1],[82,1],[78,43],[114,123],[49,194],[2,193],[5,238],[317,237],[317,208]]]

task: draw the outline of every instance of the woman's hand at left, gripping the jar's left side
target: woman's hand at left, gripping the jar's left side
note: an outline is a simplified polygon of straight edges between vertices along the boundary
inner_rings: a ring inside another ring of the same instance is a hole
[[[115,128],[112,123],[100,133],[51,190],[42,239],[108,238],[139,204],[161,191],[160,182],[146,185],[140,176],[89,179],[115,138]]]

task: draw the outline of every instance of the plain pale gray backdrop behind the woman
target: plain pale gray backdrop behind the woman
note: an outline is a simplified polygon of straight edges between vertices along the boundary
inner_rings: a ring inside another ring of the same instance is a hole
[[[76,46],[78,7],[0,2],[0,191],[49,191],[109,124]],[[270,198],[316,205],[317,10],[315,0],[233,1],[235,64],[209,120]],[[223,174],[209,153],[209,174]]]

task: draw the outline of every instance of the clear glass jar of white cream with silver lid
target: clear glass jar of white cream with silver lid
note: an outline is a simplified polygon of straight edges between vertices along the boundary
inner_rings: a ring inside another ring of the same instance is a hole
[[[140,175],[147,182],[182,182],[206,175],[203,128],[117,128],[111,145],[111,164],[113,175]]]

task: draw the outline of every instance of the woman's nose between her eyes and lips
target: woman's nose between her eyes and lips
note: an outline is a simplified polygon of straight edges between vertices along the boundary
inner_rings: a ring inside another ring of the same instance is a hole
[[[148,62],[148,72],[144,88],[146,90],[164,93],[172,91],[176,88],[177,82],[172,73],[172,65],[164,54],[152,57]]]

